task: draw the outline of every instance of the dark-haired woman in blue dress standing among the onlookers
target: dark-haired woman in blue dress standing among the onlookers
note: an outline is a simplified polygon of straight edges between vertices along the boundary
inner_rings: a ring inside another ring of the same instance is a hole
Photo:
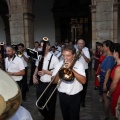
[[[104,99],[104,107],[105,107],[105,119],[109,119],[109,107],[110,107],[110,99],[107,97],[107,91],[110,88],[111,79],[110,72],[115,64],[115,59],[113,57],[113,42],[110,40],[106,40],[103,42],[103,50],[106,53],[106,58],[101,64],[100,70],[100,91],[103,95]]]

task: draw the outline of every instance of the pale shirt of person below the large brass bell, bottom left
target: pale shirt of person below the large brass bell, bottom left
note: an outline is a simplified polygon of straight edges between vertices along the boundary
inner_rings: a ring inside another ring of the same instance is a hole
[[[33,120],[31,114],[24,107],[20,106],[10,120]]]

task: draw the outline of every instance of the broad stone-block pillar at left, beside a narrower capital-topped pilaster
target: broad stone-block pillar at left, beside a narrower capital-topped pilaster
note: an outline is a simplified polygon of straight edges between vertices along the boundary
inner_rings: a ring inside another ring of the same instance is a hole
[[[11,44],[24,43],[22,0],[10,0],[9,8]]]

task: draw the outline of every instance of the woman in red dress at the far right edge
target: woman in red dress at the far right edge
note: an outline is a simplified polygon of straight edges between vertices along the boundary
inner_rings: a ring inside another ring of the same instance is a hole
[[[112,83],[110,90],[107,92],[107,96],[111,96],[111,112],[115,116],[115,108],[120,96],[120,44],[115,46],[113,56],[117,64],[111,72]]]

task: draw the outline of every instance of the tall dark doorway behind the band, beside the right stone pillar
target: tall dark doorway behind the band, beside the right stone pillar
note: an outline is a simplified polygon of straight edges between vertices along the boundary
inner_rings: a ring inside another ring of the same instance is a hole
[[[54,0],[55,38],[57,42],[73,43],[82,37],[91,47],[90,0]]]

